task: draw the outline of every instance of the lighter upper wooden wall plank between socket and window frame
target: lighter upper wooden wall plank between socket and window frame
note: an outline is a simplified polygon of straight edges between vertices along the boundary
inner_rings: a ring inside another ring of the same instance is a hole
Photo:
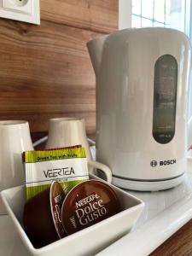
[[[41,0],[41,18],[95,32],[118,28],[118,0]]]

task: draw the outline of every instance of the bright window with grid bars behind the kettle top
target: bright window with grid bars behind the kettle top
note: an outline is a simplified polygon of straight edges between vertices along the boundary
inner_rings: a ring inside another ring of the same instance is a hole
[[[172,27],[190,37],[189,20],[189,0],[132,0],[132,27]]]

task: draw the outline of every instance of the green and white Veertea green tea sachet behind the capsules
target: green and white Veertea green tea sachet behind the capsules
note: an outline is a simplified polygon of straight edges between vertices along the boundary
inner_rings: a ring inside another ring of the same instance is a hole
[[[61,183],[65,194],[89,179],[85,148],[58,148],[24,153],[26,199],[48,189],[53,181]]]

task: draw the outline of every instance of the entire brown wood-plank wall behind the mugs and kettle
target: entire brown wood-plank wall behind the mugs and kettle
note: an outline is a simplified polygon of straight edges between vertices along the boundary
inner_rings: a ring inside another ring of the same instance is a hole
[[[96,82],[86,43],[117,29],[117,0],[41,0],[41,25],[0,18],[0,119],[26,119],[32,132],[50,118],[96,126]]]

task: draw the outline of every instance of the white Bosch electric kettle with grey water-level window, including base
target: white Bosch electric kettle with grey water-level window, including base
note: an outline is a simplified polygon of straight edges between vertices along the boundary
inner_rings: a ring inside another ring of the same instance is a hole
[[[189,39],[168,28],[131,28],[87,45],[96,73],[96,157],[111,168],[113,184],[160,190],[181,183],[192,143]]]

